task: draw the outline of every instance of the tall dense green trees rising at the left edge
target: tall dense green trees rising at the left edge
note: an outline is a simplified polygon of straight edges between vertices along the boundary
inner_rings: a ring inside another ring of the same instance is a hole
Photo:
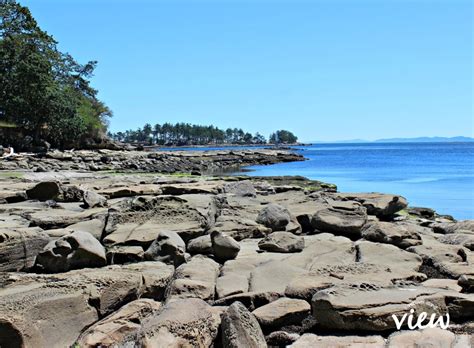
[[[0,0],[0,145],[62,148],[103,138],[112,112],[90,85],[96,64],[60,52],[27,7]]]

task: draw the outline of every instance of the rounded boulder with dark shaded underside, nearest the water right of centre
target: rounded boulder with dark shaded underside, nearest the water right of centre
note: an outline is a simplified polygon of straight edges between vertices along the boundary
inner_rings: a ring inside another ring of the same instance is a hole
[[[357,202],[333,202],[312,216],[313,228],[343,235],[351,239],[360,238],[362,227],[367,222],[365,208]]]

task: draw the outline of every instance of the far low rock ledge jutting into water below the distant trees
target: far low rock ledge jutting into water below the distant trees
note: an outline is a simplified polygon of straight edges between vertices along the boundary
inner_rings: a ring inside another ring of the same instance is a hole
[[[279,149],[223,151],[114,151],[21,153],[0,160],[0,170],[140,171],[156,173],[214,173],[236,171],[240,166],[304,161]]]

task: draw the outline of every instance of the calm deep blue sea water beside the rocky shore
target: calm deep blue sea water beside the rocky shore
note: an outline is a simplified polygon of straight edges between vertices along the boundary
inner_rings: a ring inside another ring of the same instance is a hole
[[[343,192],[401,194],[411,206],[474,219],[474,143],[316,144],[304,162],[248,167],[248,175],[302,175]]]

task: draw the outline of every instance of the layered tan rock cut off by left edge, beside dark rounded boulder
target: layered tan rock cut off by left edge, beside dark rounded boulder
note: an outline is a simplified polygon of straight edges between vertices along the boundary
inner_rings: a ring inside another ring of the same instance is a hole
[[[31,268],[49,240],[39,227],[0,228],[0,272]]]

